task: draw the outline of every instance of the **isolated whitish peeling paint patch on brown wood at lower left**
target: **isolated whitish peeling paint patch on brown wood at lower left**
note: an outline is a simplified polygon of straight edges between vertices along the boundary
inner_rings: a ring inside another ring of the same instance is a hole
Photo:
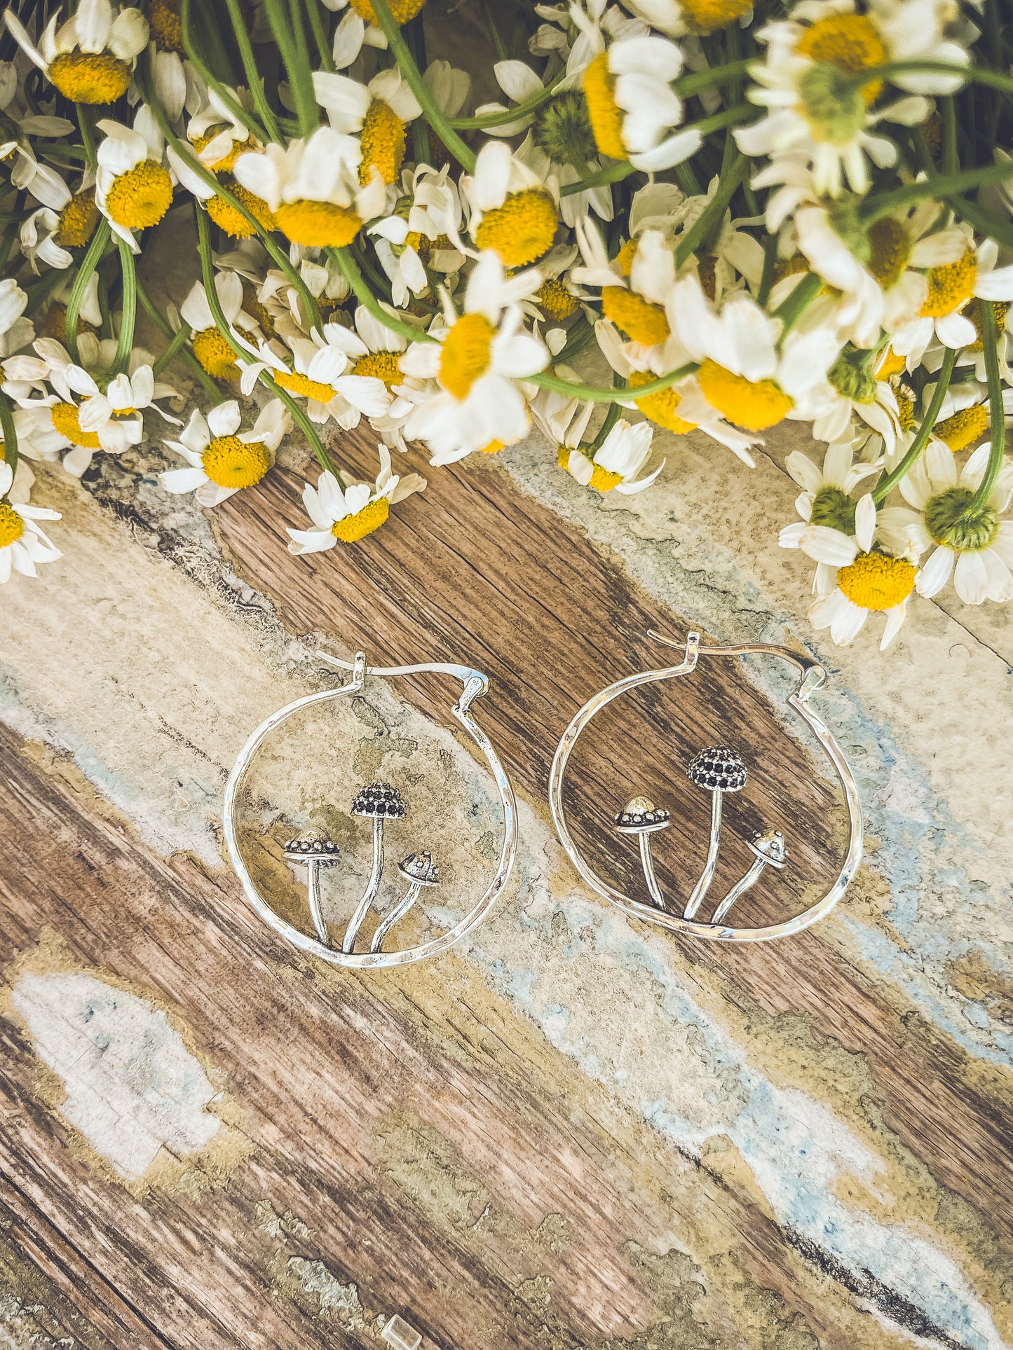
[[[22,975],[14,1007],[66,1091],[61,1115],[127,1181],[161,1149],[184,1156],[222,1127],[215,1088],[161,1008],[90,975]]]

